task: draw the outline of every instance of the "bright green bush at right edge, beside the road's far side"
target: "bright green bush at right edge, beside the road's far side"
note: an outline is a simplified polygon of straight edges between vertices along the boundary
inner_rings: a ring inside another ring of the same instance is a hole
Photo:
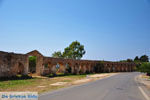
[[[142,63],[141,66],[138,68],[138,70],[140,72],[144,72],[149,75],[150,74],[150,63],[148,63],[148,62]]]

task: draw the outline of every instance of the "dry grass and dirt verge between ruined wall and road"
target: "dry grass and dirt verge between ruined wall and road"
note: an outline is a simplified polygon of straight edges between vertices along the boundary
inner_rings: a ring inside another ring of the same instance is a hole
[[[110,74],[111,75],[111,74]],[[107,76],[110,76],[107,74]],[[92,76],[92,75],[90,75]],[[99,76],[99,75],[96,75]],[[104,76],[100,74],[100,76]],[[95,77],[95,76],[94,76]],[[100,77],[102,78],[102,77]],[[90,78],[87,80],[87,75],[68,75],[68,76],[60,76],[54,78],[48,77],[36,77],[32,79],[26,80],[7,80],[7,81],[0,81],[0,92],[7,92],[7,91],[33,91],[38,93],[43,93],[47,91],[56,90],[63,87],[68,87],[74,84],[81,84],[89,81],[96,80],[98,78]],[[56,83],[65,83],[62,85],[52,85]]]

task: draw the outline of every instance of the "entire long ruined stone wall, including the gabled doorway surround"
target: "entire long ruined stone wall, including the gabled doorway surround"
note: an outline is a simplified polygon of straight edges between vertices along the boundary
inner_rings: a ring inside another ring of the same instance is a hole
[[[73,60],[45,57],[37,50],[27,54],[15,54],[0,51],[0,77],[11,77],[17,74],[29,73],[29,56],[36,56],[36,74],[57,73],[102,73],[102,72],[132,72],[136,65],[128,62],[108,62],[94,60]]]

